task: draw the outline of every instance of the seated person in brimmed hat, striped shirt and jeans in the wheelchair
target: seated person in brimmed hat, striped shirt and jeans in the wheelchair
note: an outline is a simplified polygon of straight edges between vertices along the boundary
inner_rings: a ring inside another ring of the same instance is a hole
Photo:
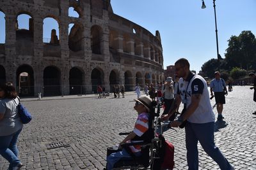
[[[150,119],[150,108],[152,100],[148,96],[141,96],[138,99],[134,99],[134,110],[138,112],[138,118],[134,125],[134,130],[128,134],[128,136],[119,144],[118,151],[111,153],[107,157],[107,169],[113,169],[115,163],[121,159],[132,159],[134,157],[141,157],[141,146],[132,145],[122,148],[125,143],[134,143],[145,141],[145,138],[150,136],[148,134],[148,122]]]

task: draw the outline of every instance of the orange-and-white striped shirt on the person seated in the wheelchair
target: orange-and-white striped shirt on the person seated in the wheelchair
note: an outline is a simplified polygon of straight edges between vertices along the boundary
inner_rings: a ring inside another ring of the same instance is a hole
[[[140,113],[140,115],[138,115],[138,118],[135,122],[134,129],[133,129],[133,132],[137,136],[142,136],[146,131],[148,131],[148,118],[149,118],[148,113]],[[132,141],[132,142],[139,142],[139,141]],[[132,152],[141,152],[141,146],[139,145],[129,146],[129,147],[131,148]]]

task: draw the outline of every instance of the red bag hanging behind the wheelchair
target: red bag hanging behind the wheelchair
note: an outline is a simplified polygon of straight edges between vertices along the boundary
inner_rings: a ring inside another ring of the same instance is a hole
[[[172,143],[165,141],[164,160],[161,169],[173,169],[174,167],[174,146]]]

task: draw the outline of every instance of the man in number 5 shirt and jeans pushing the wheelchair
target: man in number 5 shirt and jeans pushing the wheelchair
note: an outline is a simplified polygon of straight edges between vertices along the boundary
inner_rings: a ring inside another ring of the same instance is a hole
[[[214,113],[209,99],[207,83],[202,76],[193,74],[189,69],[187,59],[175,62],[175,73],[180,78],[175,104],[168,115],[162,120],[168,120],[181,101],[184,103],[182,115],[174,120],[171,127],[179,127],[185,121],[186,149],[189,170],[198,169],[198,141],[204,151],[220,166],[221,170],[233,170],[228,160],[214,143]]]

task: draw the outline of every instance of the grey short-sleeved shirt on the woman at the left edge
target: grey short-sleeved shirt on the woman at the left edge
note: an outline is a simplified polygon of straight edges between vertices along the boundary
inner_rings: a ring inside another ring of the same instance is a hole
[[[0,114],[4,114],[4,118],[0,120],[0,136],[8,136],[23,127],[18,115],[18,104],[18,98],[0,99]]]

